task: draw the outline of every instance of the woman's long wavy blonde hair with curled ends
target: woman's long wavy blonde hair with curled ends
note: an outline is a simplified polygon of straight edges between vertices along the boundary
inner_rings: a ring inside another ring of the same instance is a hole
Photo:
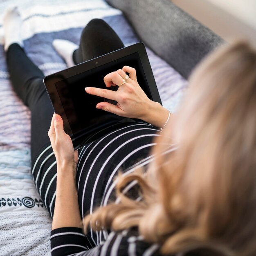
[[[167,126],[148,170],[119,175],[119,204],[84,219],[85,226],[137,226],[162,254],[206,248],[212,255],[256,255],[256,52],[226,46],[193,72],[174,132]],[[166,141],[180,147],[163,154]],[[163,143],[164,142],[164,143]],[[122,189],[139,185],[141,201]]]

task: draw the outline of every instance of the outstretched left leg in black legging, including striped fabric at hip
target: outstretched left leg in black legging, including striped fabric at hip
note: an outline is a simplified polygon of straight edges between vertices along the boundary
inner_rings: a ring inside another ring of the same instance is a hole
[[[43,84],[44,74],[31,62],[18,44],[9,46],[7,65],[14,90],[31,110],[32,176],[45,206],[52,214],[54,211],[52,199],[56,191],[56,159],[47,132],[54,109]],[[48,149],[41,155],[46,148]],[[52,167],[49,168],[50,166]]]

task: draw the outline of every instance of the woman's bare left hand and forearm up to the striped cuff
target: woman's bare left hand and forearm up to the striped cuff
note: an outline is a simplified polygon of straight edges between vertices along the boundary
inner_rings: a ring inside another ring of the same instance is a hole
[[[60,115],[54,113],[48,136],[57,161],[56,200],[52,229],[82,228],[75,180],[78,152],[74,151],[70,136],[64,132]]]

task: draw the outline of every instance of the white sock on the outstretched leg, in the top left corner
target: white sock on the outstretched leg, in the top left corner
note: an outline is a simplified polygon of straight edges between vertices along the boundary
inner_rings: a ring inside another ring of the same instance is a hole
[[[7,51],[13,43],[18,43],[21,47],[23,42],[21,39],[22,19],[18,7],[11,7],[4,13],[3,29],[4,29],[4,51]]]

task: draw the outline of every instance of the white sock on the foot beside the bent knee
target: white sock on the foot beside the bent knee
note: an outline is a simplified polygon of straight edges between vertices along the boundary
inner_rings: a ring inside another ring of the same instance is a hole
[[[79,46],[68,40],[55,39],[52,42],[54,49],[67,63],[67,67],[73,67],[75,65],[73,61],[74,50],[78,49]]]

